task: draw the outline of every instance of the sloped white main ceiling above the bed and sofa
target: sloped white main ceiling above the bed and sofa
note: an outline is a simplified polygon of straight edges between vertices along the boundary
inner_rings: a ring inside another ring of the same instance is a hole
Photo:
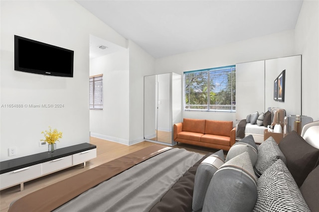
[[[294,29],[302,0],[76,0],[155,58]]]

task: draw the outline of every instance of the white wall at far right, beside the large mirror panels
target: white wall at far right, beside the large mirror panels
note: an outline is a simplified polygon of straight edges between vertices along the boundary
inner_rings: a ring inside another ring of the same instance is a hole
[[[295,53],[302,54],[302,114],[319,120],[319,1],[304,0],[295,28]]]

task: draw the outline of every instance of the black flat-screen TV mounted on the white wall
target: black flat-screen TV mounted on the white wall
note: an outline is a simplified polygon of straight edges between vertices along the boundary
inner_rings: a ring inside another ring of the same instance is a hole
[[[14,70],[73,77],[74,51],[14,35]]]

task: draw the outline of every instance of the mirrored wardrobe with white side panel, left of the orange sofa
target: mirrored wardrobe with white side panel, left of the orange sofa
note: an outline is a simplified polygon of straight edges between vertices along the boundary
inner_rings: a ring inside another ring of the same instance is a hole
[[[175,73],[144,77],[144,139],[174,145],[173,124],[181,122],[181,76]]]

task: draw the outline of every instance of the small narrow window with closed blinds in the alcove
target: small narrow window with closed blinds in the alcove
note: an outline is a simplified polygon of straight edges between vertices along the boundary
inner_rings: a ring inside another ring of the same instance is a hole
[[[90,109],[103,109],[103,74],[90,77]]]

